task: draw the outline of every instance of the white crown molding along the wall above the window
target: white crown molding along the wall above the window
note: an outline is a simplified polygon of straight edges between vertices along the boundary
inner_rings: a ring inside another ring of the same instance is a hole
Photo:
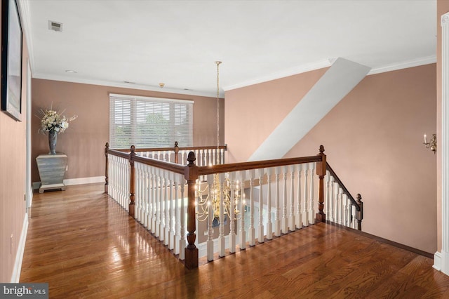
[[[160,86],[148,86],[143,84],[132,84],[132,83],[124,83],[124,82],[114,82],[114,81],[106,81],[106,80],[97,80],[97,79],[82,79],[82,78],[68,78],[65,76],[58,76],[53,74],[33,74],[34,79],[46,79],[46,80],[55,80],[55,81],[63,81],[63,82],[71,82],[71,83],[80,83],[80,84],[91,84],[91,85],[100,85],[100,86],[111,86],[111,87],[119,87],[119,88],[128,88],[128,89],[138,89],[140,91],[157,91],[159,93],[176,93],[180,95],[198,95],[202,97],[208,98],[217,98],[217,93],[208,93],[206,91],[191,91],[185,89],[177,89],[177,88],[167,88]],[[225,95],[220,94],[220,98],[224,98]]]

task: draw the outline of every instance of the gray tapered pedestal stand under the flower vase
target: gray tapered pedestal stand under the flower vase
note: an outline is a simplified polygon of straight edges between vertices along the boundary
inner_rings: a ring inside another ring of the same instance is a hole
[[[62,181],[67,168],[66,154],[41,154],[36,157],[36,163],[39,169],[39,176],[41,177],[39,193],[43,193],[44,190],[65,190],[65,185]]]

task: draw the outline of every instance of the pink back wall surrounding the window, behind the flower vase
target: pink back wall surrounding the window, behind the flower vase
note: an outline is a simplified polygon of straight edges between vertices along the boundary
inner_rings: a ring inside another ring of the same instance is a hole
[[[37,114],[40,108],[65,109],[67,117],[73,114],[78,119],[69,124],[64,133],[58,135],[57,152],[69,157],[65,178],[88,178],[105,175],[105,143],[109,140],[109,93],[142,95],[159,98],[194,100],[194,145],[217,144],[216,98],[195,95],[179,95],[156,91],[140,91],[90,84],[33,79],[32,109]],[[223,100],[220,100],[221,125],[220,144],[224,142]],[[32,119],[32,181],[39,181],[36,157],[48,153],[48,138],[38,134],[40,120]]]

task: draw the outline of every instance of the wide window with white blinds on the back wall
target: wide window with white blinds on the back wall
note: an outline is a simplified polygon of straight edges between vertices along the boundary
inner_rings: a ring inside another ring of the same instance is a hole
[[[193,144],[193,101],[109,94],[109,147]]]

